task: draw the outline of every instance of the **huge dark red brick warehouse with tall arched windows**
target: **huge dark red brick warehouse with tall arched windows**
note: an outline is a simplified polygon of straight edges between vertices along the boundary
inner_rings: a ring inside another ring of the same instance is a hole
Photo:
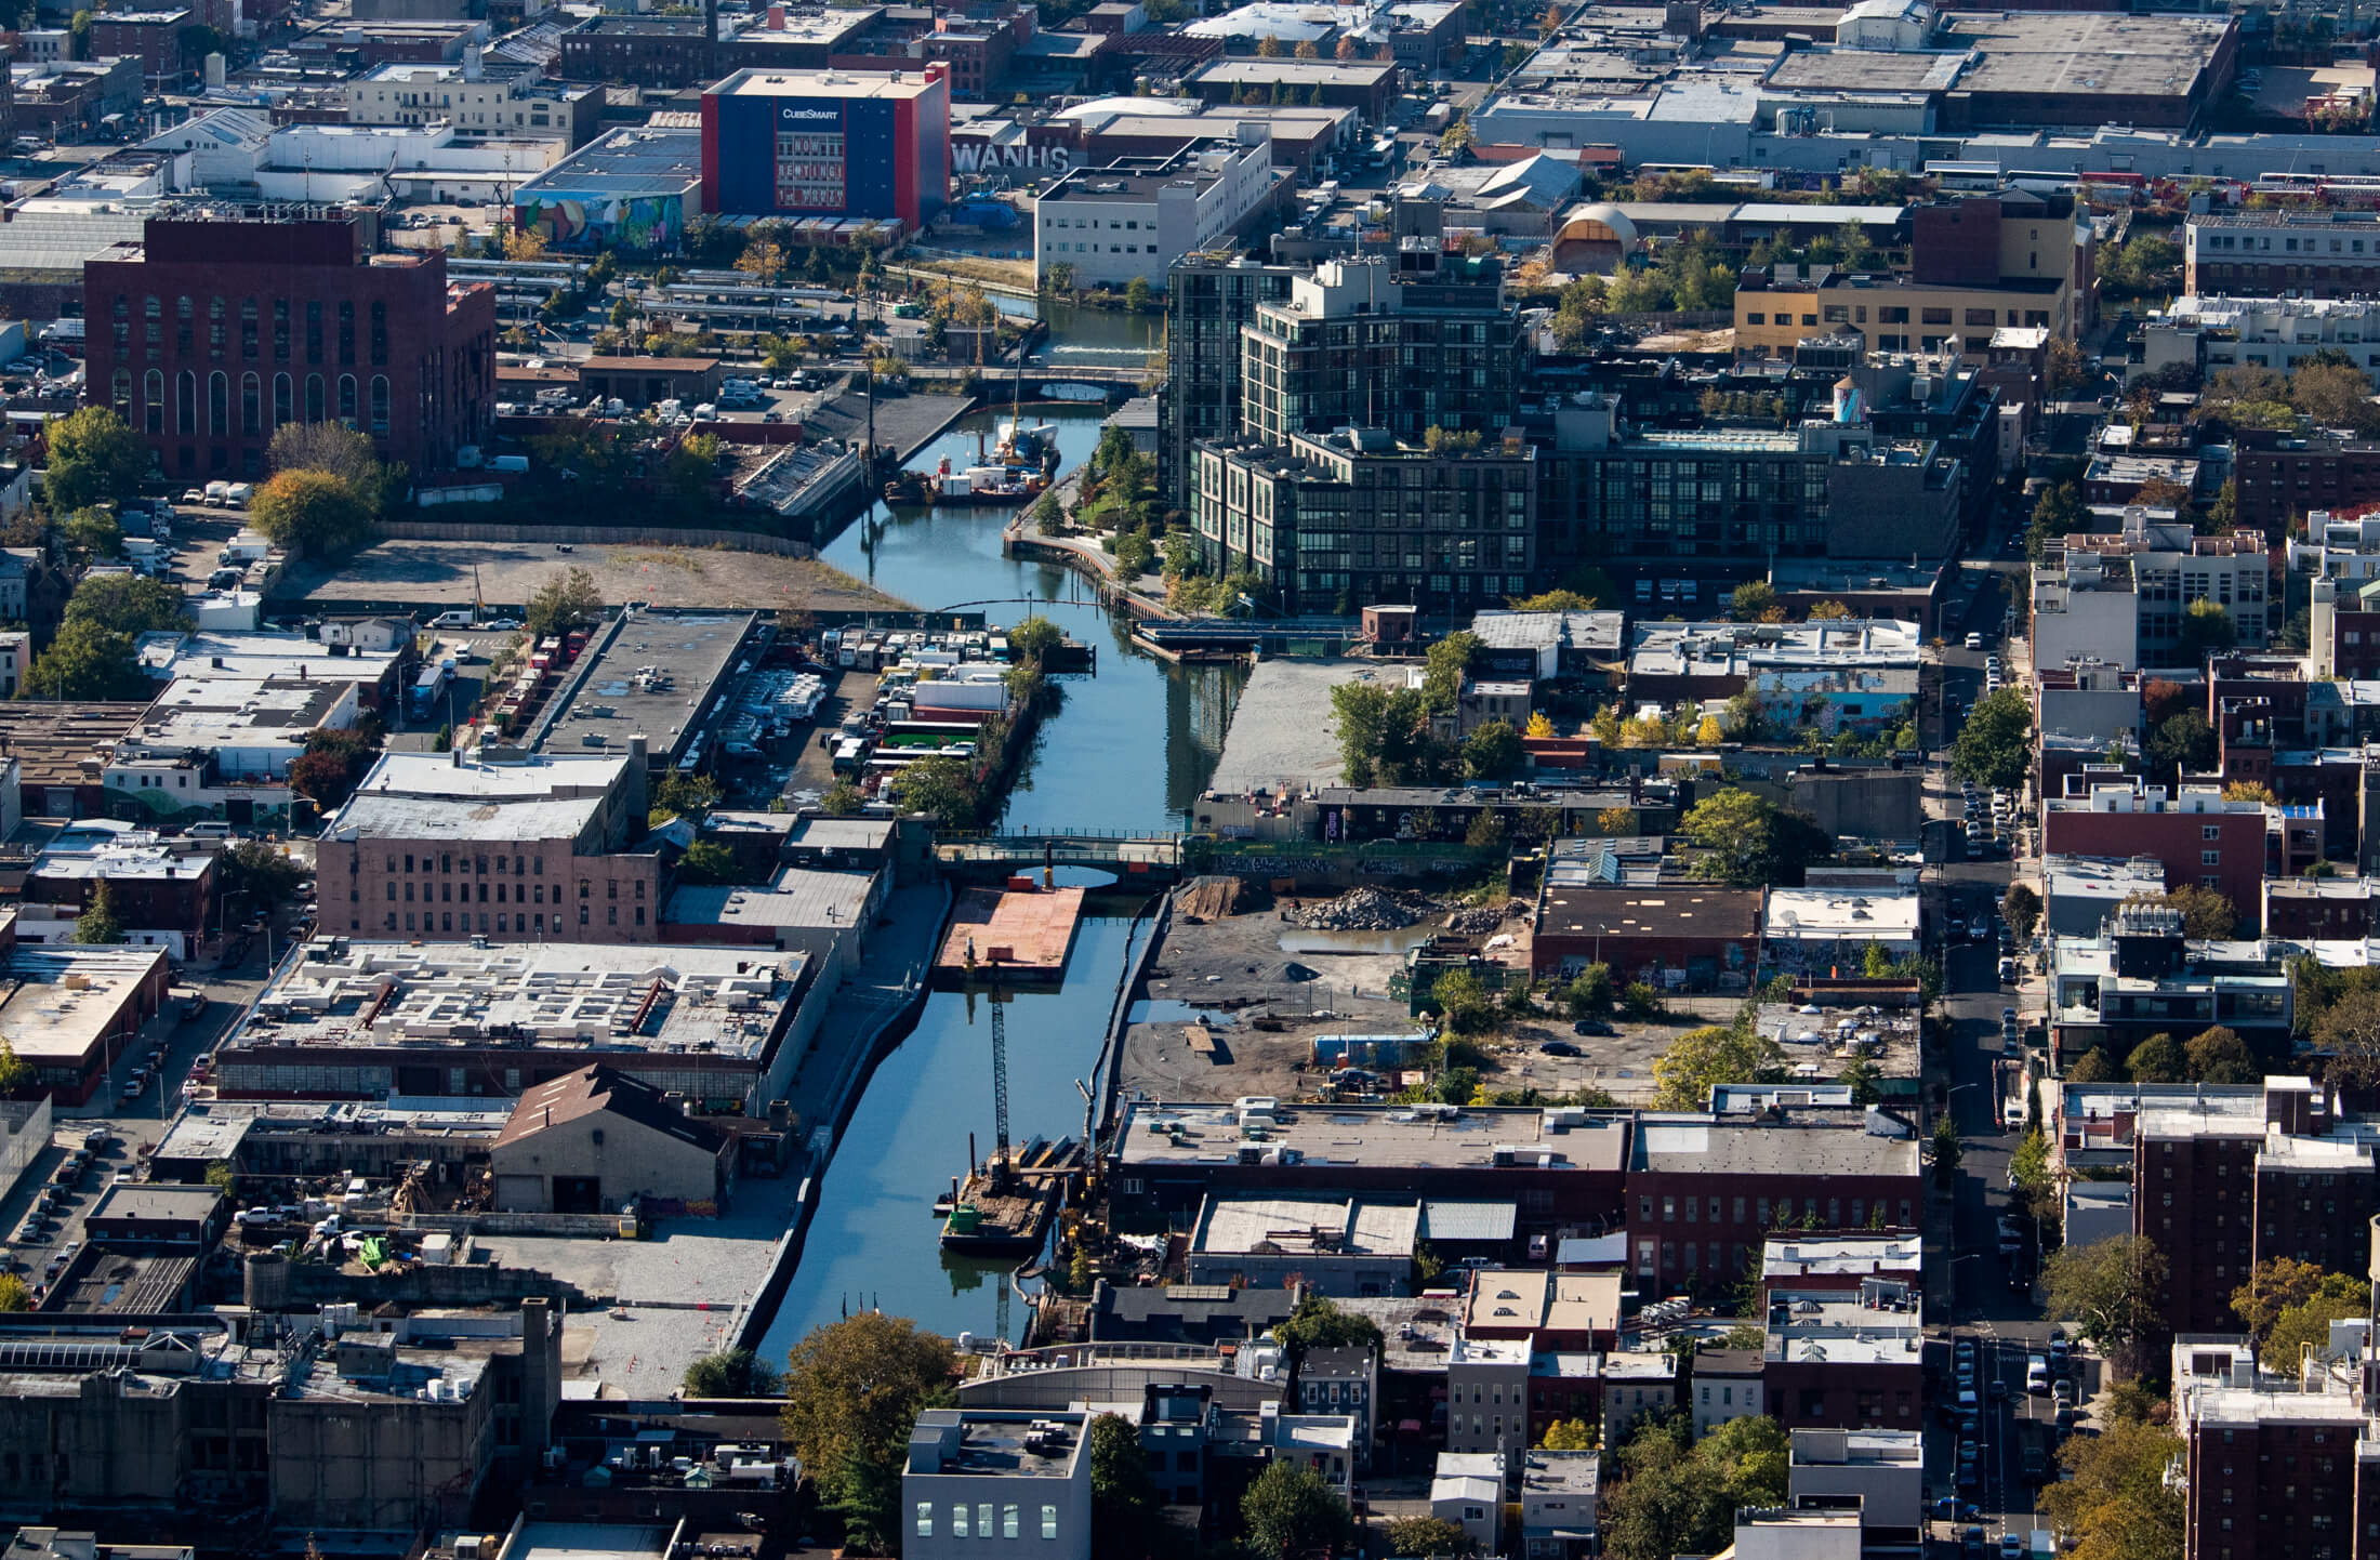
[[[455,464],[495,410],[495,291],[445,255],[371,255],[359,217],[155,217],[83,267],[93,400],[171,479],[262,476],[286,422],[371,433],[414,472]]]

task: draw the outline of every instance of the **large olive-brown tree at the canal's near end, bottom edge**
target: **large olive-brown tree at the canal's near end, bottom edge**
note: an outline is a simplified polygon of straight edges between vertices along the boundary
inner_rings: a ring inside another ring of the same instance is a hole
[[[828,1500],[850,1489],[852,1458],[892,1472],[897,1486],[916,1410],[950,1393],[957,1374],[950,1341],[909,1317],[864,1310],[814,1327],[785,1358],[785,1439]]]

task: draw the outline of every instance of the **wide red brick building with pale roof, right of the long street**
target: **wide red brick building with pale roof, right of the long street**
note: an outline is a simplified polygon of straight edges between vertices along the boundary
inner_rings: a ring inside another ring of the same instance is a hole
[[[2221,786],[2182,786],[2168,798],[2140,779],[2090,776],[2087,795],[2042,807],[2044,855],[2154,855],[2166,888],[2213,888],[2249,926],[2263,905],[2266,831],[2263,805],[2223,800]]]

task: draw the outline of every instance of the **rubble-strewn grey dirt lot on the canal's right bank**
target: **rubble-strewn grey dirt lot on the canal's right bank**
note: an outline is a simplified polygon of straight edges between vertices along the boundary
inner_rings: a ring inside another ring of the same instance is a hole
[[[1247,1093],[1297,1098],[1323,1074],[1304,1062],[1316,1034],[1414,1034],[1402,998],[1388,996],[1404,950],[1445,929],[1445,912],[1404,931],[1314,934],[1285,915],[1297,900],[1192,924],[1176,907],[1157,948],[1142,998],[1152,1007],[1123,1034],[1123,1086],[1161,1100],[1233,1100]],[[1507,922],[1526,936],[1526,922]],[[1333,948],[1335,946],[1335,948]],[[1526,946],[1521,948],[1526,957]],[[1304,974],[1299,974],[1304,972]],[[1183,1003],[1185,1007],[1173,1007]],[[1240,1003],[1238,1007],[1226,1007]],[[1507,1022],[1483,1048],[1495,1060],[1490,1091],[1537,1088],[1568,1093],[1606,1088],[1623,1103],[1652,1093],[1652,1060],[1671,1038],[1697,1024],[1735,1017],[1737,998],[1676,998],[1661,1019],[1616,1022],[1616,1036],[1573,1036],[1554,1010]],[[1252,1027],[1254,1017],[1283,1019],[1280,1031]],[[1190,1027],[1211,1019],[1216,1048],[1190,1048]],[[1537,1046],[1568,1041],[1585,1055],[1542,1055]]]

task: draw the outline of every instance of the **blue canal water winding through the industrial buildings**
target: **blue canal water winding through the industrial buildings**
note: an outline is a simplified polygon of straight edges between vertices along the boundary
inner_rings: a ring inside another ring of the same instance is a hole
[[[1097,314],[1150,326],[1154,319]],[[1092,348],[1130,350],[1121,331]],[[928,445],[916,462],[945,455],[966,464],[978,431],[1000,414],[978,412]],[[1050,410],[1061,464],[1081,464],[1100,441],[1102,412]],[[919,607],[981,610],[992,622],[1040,612],[1097,645],[1095,676],[1054,679],[1064,705],[1042,722],[1019,772],[1002,826],[1009,829],[1173,829],[1214,774],[1238,667],[1166,667],[1130,648],[1088,588],[1050,564],[1000,555],[1004,510],[890,507],[878,503],[826,548],[826,560]],[[1073,881],[1100,881],[1078,876]],[[1145,936],[1145,929],[1142,934]],[[1016,993],[1007,1007],[1012,1136],[1021,1143],[1081,1136],[1083,1098],[1116,981],[1138,948],[1128,917],[1085,919],[1059,991]],[[985,998],[935,993],[916,1029],[888,1055],[843,1134],[819,1188],[802,1262],[769,1329],[764,1355],[783,1353],[812,1327],[881,1308],[942,1334],[988,1339],[1007,1315],[1023,1336],[1028,1312],[1000,1305],[1007,1269],[940,1250],[933,1198],[966,1172],[966,1134],[992,1141],[990,1007]]]

